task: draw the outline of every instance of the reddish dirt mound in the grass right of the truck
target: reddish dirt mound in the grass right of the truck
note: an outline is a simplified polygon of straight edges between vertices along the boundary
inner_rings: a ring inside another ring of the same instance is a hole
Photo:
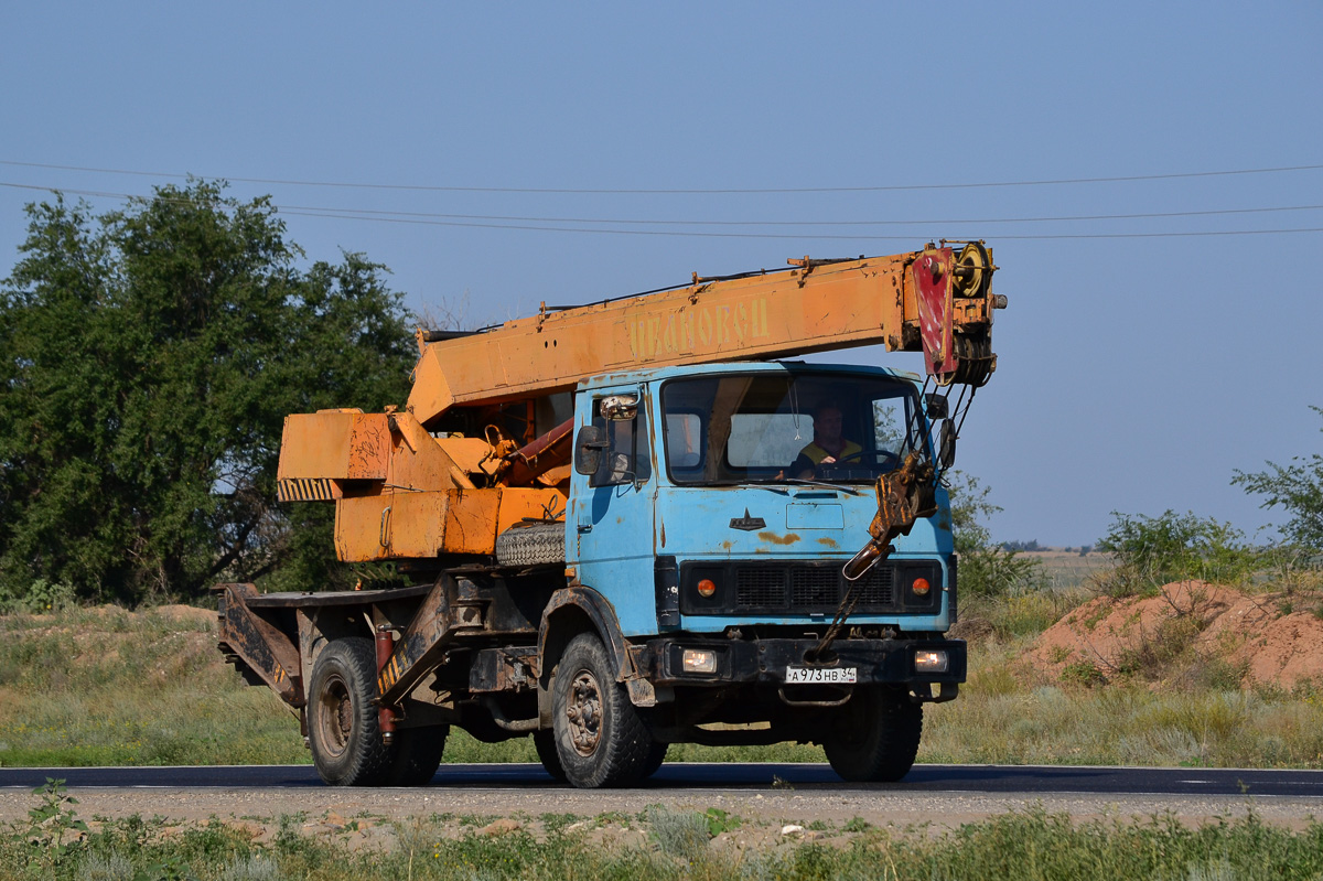
[[[1080,663],[1110,676],[1135,659],[1192,647],[1245,671],[1244,685],[1323,683],[1323,620],[1291,608],[1279,594],[1174,582],[1158,597],[1090,599],[1045,630],[1031,655],[1053,677]]]

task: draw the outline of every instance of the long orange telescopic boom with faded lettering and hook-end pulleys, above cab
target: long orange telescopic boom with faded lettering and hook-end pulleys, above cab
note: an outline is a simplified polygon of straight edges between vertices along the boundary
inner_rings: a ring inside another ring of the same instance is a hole
[[[423,425],[452,407],[536,398],[613,370],[769,360],[856,345],[926,355],[938,382],[982,385],[995,267],[982,243],[705,279],[684,288],[569,310],[429,341],[407,410]]]

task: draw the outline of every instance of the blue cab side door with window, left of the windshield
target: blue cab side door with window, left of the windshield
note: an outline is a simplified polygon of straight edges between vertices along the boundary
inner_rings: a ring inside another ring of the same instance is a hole
[[[576,438],[598,430],[597,468],[572,478],[568,557],[581,583],[606,597],[624,635],[655,634],[654,504],[656,479],[648,401],[639,385],[581,392]],[[634,401],[632,413],[628,405]],[[578,446],[578,443],[576,443]]]

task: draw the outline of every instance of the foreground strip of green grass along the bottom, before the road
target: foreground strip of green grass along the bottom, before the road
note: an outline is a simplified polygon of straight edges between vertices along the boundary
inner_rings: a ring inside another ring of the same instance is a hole
[[[1293,831],[1250,810],[1236,820],[1188,827],[1174,816],[1072,821],[1043,810],[1009,812],[953,831],[880,829],[851,820],[812,824],[812,841],[732,823],[713,810],[652,806],[636,816],[521,818],[484,835],[448,816],[397,823],[370,845],[356,828],[304,832],[304,818],[280,818],[265,843],[218,820],[175,827],[161,820],[103,820],[79,829],[75,803],[58,790],[38,796],[26,821],[0,835],[0,874],[15,880],[267,881],[274,878],[1316,878],[1323,825]],[[640,829],[631,843],[603,843],[602,827]],[[732,847],[732,836],[747,840]]]

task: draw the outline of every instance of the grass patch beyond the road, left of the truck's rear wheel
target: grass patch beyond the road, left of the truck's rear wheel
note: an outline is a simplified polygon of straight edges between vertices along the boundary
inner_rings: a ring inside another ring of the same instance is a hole
[[[294,716],[222,664],[205,619],[0,618],[0,765],[304,761]]]

